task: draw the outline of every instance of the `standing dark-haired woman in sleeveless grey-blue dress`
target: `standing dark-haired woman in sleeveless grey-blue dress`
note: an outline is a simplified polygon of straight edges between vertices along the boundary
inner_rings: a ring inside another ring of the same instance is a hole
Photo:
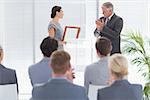
[[[51,38],[55,38],[58,41],[58,49],[63,49],[63,44],[66,44],[66,42],[62,41],[62,35],[63,35],[63,29],[59,23],[59,20],[62,19],[64,16],[64,13],[62,11],[62,8],[60,6],[54,6],[51,10],[51,18],[48,25],[48,33]]]

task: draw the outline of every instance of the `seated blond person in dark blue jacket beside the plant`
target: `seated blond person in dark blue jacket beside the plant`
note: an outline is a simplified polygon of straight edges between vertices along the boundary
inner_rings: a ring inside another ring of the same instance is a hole
[[[128,74],[127,59],[114,54],[109,60],[110,87],[98,90],[97,100],[142,100],[142,86],[124,79]]]

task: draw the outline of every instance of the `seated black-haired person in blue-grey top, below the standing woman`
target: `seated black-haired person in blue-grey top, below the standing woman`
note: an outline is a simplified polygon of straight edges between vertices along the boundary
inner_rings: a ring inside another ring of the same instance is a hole
[[[45,83],[51,78],[52,70],[49,67],[49,61],[52,52],[57,50],[57,48],[58,42],[55,39],[50,37],[43,39],[40,45],[43,59],[40,62],[30,66],[28,70],[32,85]]]

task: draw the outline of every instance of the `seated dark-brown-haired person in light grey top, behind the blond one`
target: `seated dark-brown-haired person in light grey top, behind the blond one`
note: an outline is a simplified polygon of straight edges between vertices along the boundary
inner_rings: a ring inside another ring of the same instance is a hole
[[[87,93],[89,84],[107,85],[109,79],[108,57],[112,48],[111,41],[105,37],[98,38],[95,47],[100,59],[88,65],[85,69],[84,86],[87,89]]]

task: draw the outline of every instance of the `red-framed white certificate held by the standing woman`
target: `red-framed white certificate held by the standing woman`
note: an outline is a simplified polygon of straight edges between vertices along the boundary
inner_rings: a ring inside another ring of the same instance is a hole
[[[70,39],[78,39],[79,33],[80,33],[80,27],[65,26],[62,41],[67,41]]]

